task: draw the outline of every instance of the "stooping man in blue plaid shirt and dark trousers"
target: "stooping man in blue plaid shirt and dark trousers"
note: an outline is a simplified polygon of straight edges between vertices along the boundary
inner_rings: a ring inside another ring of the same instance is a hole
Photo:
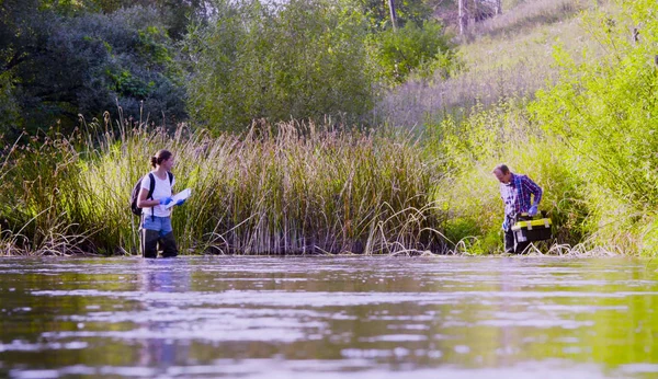
[[[537,214],[537,206],[542,200],[542,188],[525,175],[514,174],[506,164],[499,164],[494,169],[494,175],[500,182],[500,197],[504,203],[504,252],[522,253],[530,242],[515,243],[512,226],[517,221],[517,215],[526,213],[533,217]],[[533,202],[531,203],[531,195]]]

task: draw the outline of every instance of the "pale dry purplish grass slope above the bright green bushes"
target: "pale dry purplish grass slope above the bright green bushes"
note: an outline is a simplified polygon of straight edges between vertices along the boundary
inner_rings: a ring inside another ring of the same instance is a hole
[[[591,0],[512,2],[503,14],[473,25],[466,36],[455,37],[461,44],[462,69],[452,78],[411,80],[388,93],[377,112],[393,125],[422,125],[468,111],[476,103],[532,97],[555,80],[555,46],[574,55],[588,51],[583,58],[602,53],[583,24],[583,16],[594,8]],[[452,21],[446,22],[450,25]],[[454,33],[454,25],[452,28]]]

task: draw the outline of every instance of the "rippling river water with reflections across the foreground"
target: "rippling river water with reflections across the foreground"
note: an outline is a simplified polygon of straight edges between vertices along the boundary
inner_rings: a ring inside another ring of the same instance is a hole
[[[651,378],[633,259],[1,259],[0,377]]]

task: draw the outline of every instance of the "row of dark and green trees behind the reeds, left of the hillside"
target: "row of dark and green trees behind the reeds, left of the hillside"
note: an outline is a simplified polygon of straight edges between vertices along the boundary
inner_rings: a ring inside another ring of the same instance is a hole
[[[383,78],[450,72],[452,47],[427,5],[398,2],[394,35],[368,24],[374,3],[352,0],[5,0],[0,133],[69,133],[106,111],[163,125],[189,112],[214,129],[370,123]]]

